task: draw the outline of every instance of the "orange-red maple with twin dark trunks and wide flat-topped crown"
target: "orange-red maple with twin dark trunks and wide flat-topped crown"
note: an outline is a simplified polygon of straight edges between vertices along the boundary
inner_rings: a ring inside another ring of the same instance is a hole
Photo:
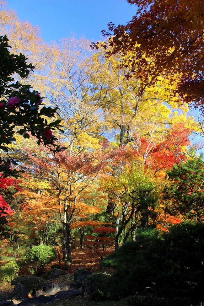
[[[81,193],[96,179],[99,171],[120,152],[103,150],[95,153],[70,155],[62,152],[51,155],[40,148],[35,153],[28,153],[31,173],[38,180],[47,181],[52,189],[53,203],[59,207],[60,220],[63,227],[63,258],[71,260],[71,223],[78,208],[83,210],[86,205],[80,201]],[[34,156],[35,155],[35,156]],[[31,174],[32,176],[32,174]],[[96,212],[98,210],[94,210]]]

